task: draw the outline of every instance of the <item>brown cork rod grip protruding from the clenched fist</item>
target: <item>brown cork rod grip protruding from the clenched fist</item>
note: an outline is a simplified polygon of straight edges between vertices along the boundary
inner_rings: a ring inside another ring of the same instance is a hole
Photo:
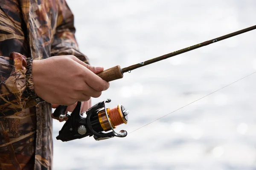
[[[119,65],[116,65],[112,68],[108,68],[107,70],[104,70],[104,71],[98,73],[97,75],[107,82],[111,82],[113,80],[123,78],[122,69],[120,68]]]

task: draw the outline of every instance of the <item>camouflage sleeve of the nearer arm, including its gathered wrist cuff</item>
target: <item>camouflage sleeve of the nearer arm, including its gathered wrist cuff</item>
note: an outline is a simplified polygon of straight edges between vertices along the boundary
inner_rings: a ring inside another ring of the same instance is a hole
[[[16,52],[0,56],[0,118],[19,113],[29,99],[36,97],[32,61]]]

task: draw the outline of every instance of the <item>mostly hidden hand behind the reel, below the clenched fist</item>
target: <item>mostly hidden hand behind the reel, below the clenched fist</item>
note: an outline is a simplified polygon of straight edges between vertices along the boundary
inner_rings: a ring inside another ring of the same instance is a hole
[[[76,108],[76,104],[77,102],[73,105],[68,106],[65,111],[65,114],[67,114],[67,111],[73,112],[73,110]],[[52,104],[52,108],[57,108],[58,106],[59,105]],[[86,102],[81,102],[81,112],[87,111],[90,107],[91,107],[91,99]],[[52,114],[52,119],[57,119],[59,122],[63,122],[67,120],[67,117],[65,117],[64,119],[59,119],[58,117],[54,117]]]

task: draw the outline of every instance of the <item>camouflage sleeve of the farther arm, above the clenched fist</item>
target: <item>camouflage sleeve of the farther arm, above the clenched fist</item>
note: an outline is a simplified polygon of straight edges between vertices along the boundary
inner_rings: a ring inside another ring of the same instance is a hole
[[[51,46],[51,56],[74,55],[89,64],[88,58],[79,51],[75,38],[74,16],[65,0],[59,1],[57,26]]]

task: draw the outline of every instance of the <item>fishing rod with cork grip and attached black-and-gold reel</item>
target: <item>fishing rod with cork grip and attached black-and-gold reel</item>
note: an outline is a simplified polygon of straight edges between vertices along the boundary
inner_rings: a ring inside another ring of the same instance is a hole
[[[249,28],[242,29],[240,31],[233,32],[231,34],[227,34],[218,38],[214,38],[212,40],[208,40],[196,45],[192,45],[187,48],[180,49],[178,51],[174,51],[172,53],[156,57],[153,59],[149,59],[144,62],[140,62],[135,65],[131,65],[125,68],[121,68],[119,65],[116,65],[112,68],[109,68],[105,71],[97,74],[99,77],[104,79],[107,82],[121,79],[123,78],[123,74],[126,72],[131,72],[131,70],[143,67],[145,65],[152,64],[154,62],[161,61],[163,59],[167,59],[182,53],[186,53],[188,51],[192,51],[196,48],[200,48],[214,42],[218,42],[230,37],[234,37],[236,35],[245,33],[247,31],[251,31],[256,29],[256,26],[252,26]],[[196,100],[197,101],[197,100]],[[59,135],[56,139],[61,140],[63,142],[70,141],[73,139],[81,139],[86,136],[93,136],[95,140],[109,139],[111,137],[125,137],[127,136],[127,132],[125,130],[120,130],[119,133],[116,133],[114,128],[116,126],[121,125],[123,123],[127,124],[128,121],[128,113],[122,105],[118,105],[116,108],[110,109],[106,108],[106,103],[111,102],[110,99],[107,99],[103,102],[99,102],[93,107],[89,108],[86,112],[81,113],[81,102],[77,102],[76,108],[74,111],[67,112],[65,114],[67,106],[60,105],[53,113],[54,117],[58,117],[59,119],[63,119],[67,117],[67,121],[59,131]],[[102,133],[103,131],[107,132],[112,130],[109,133]]]

